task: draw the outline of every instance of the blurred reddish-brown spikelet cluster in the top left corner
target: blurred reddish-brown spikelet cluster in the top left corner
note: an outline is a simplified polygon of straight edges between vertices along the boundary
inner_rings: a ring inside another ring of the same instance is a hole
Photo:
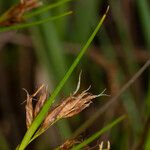
[[[41,6],[41,4],[38,0],[21,0],[0,17],[0,26],[10,26],[22,22],[24,13]]]

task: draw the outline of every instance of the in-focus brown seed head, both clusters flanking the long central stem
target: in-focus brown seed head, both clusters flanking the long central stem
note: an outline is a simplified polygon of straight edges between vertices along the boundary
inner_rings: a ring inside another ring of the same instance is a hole
[[[84,110],[92,103],[93,99],[100,96],[106,96],[106,94],[104,94],[105,90],[98,95],[90,93],[89,92],[90,87],[87,90],[84,90],[83,92],[79,93],[78,90],[80,88],[80,78],[81,78],[80,76],[81,73],[79,75],[79,82],[77,84],[75,92],[73,92],[73,94],[71,94],[67,98],[63,99],[60,104],[58,104],[56,107],[54,107],[49,111],[49,113],[45,117],[45,120],[35,133],[35,136],[39,136],[40,134],[42,134],[56,121],[79,114],[82,110]],[[35,108],[33,108],[32,100],[35,96],[37,96],[39,92],[41,93],[39,94],[39,98],[35,105]],[[27,93],[27,103],[26,103],[27,128],[30,127],[31,123],[33,122],[33,119],[38,115],[38,113],[42,109],[46,99],[47,99],[47,88],[44,85],[42,85],[31,96]]]

